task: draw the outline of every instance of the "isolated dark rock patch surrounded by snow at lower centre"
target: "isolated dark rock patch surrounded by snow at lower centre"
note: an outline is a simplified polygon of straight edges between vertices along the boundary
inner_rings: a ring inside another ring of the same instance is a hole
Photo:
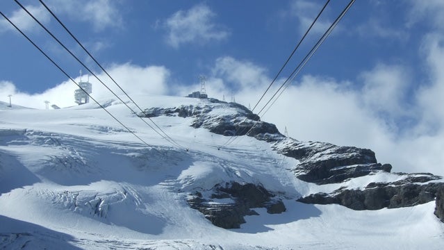
[[[270,214],[286,211],[283,202],[274,194],[252,183],[216,185],[208,197],[201,192],[191,194],[188,203],[215,226],[222,228],[240,228],[246,215],[258,215],[252,208],[267,208]]]

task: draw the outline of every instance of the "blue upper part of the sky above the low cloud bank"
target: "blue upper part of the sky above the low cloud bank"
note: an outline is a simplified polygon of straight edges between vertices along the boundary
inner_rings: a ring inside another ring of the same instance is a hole
[[[303,49],[312,46],[324,31],[322,28],[334,20],[347,2],[331,1],[320,19],[322,25],[315,27],[318,32],[309,36]],[[69,48],[81,52],[38,1],[22,3],[36,9],[40,19]],[[162,65],[170,70],[174,81],[186,85],[196,81],[199,74],[208,74],[215,59],[222,56],[250,61],[265,68],[270,77],[276,74],[324,1],[47,3],[104,65]],[[422,27],[406,27],[406,22],[411,22],[410,6],[403,1],[357,1],[304,73],[352,80],[381,61],[414,63],[420,55],[409,48],[418,47],[420,38],[413,34],[418,34]],[[1,10],[10,17],[26,17],[26,13],[17,14],[19,6],[12,0],[2,1]],[[31,20],[26,22],[31,23],[27,34],[59,59],[67,72],[77,76],[79,63]],[[2,80],[13,81],[19,90],[30,93],[43,92],[65,80],[31,44],[7,27],[3,21],[0,52],[9,60],[1,63]],[[294,67],[304,53],[296,55],[290,66]],[[87,58],[84,53],[79,55]]]

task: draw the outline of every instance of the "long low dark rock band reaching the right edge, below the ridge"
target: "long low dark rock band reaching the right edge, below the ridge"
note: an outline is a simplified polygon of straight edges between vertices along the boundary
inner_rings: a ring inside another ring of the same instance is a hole
[[[413,180],[428,182],[436,178],[439,176],[421,176]],[[435,197],[439,197],[439,190],[443,188],[444,183],[411,183],[404,179],[392,183],[370,183],[363,189],[340,188],[330,194],[310,194],[299,198],[298,201],[312,204],[336,203],[353,210],[402,208],[433,201]]]

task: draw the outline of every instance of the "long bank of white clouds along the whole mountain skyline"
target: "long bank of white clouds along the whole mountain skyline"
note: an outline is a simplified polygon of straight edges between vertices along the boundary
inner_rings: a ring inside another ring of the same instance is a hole
[[[430,70],[430,82],[413,93],[410,104],[405,99],[413,83],[409,82],[406,67],[379,64],[357,76],[354,82],[302,76],[261,117],[277,124],[280,131],[287,127],[290,136],[297,140],[370,148],[377,153],[379,162],[393,164],[396,172],[444,175],[444,111],[437,101],[444,99],[444,74],[439,70],[444,63],[444,39],[436,39],[426,40],[427,49],[423,51],[427,55],[425,65]],[[197,84],[172,85],[170,71],[162,66],[126,63],[114,65],[108,72],[130,95],[184,96],[199,90]],[[267,73],[265,68],[249,61],[228,56],[217,58],[208,72],[206,90],[209,97],[222,99],[224,95],[227,101],[235,97],[238,103],[254,106],[270,83]],[[106,79],[102,74],[98,76]],[[94,98],[110,97],[96,79],[90,77],[90,82]],[[270,93],[282,82],[283,79],[277,81]],[[105,83],[120,93],[110,80]],[[44,108],[44,100],[60,107],[74,106],[75,89],[67,81],[40,94],[26,94],[19,92],[13,83],[0,82],[0,92],[5,98],[13,94],[13,104],[33,108]],[[265,96],[265,101],[270,95]],[[404,123],[404,120],[413,122]]]

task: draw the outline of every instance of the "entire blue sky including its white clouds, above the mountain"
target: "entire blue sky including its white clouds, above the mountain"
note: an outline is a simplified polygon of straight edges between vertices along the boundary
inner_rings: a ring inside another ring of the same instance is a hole
[[[99,68],[38,1],[20,1]],[[62,1],[56,15],[125,90],[182,96],[204,74],[210,97],[252,106],[324,1]],[[332,0],[279,85],[348,1]],[[71,76],[81,65],[13,0],[0,10]],[[293,138],[376,151],[400,169],[444,174],[444,2],[358,0],[263,119]],[[0,101],[74,105],[75,86],[0,20]],[[82,69],[86,72],[85,69]],[[93,95],[106,92],[91,78]],[[106,83],[108,83],[106,79]]]

